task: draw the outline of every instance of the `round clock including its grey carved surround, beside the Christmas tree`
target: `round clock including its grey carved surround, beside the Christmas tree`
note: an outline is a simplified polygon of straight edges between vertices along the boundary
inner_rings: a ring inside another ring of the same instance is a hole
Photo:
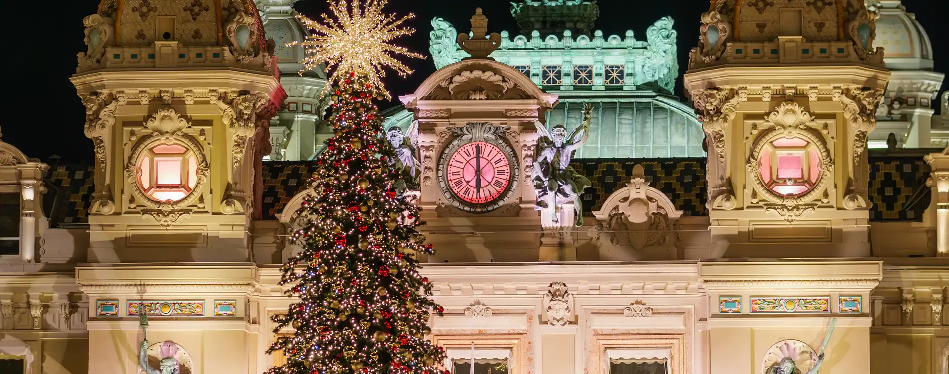
[[[457,136],[438,157],[438,186],[449,203],[487,213],[511,199],[520,169],[517,153],[504,137],[508,129],[490,123],[451,129]]]

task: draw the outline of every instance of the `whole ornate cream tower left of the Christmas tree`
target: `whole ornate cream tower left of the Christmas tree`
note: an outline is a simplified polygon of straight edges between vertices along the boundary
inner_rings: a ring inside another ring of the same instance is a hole
[[[84,24],[72,82],[95,144],[88,261],[248,261],[286,98],[253,2],[103,0]]]

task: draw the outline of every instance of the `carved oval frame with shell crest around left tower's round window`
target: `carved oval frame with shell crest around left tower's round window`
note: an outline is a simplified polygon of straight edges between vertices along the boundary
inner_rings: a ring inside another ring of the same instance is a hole
[[[191,123],[182,118],[174,109],[158,109],[145,123],[145,127],[151,133],[141,136],[129,153],[128,160],[125,163],[125,177],[134,196],[133,203],[136,206],[143,206],[140,209],[141,214],[151,217],[162,226],[168,227],[180,221],[181,218],[190,216],[195,211],[195,207],[203,207],[201,197],[204,193],[204,185],[208,183],[211,176],[211,169],[200,141],[195,136],[186,133],[186,130],[191,128]],[[144,151],[159,144],[178,144],[195,154],[197,182],[195,187],[177,202],[152,200],[139,186],[138,165],[140,158]]]

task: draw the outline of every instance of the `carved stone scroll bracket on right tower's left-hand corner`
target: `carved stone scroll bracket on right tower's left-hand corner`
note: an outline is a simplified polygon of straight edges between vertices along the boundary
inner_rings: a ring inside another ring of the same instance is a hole
[[[735,190],[728,178],[725,168],[725,157],[728,147],[725,129],[735,118],[735,108],[739,102],[748,101],[748,90],[740,88],[709,88],[693,94],[693,105],[698,112],[698,120],[702,122],[705,132],[709,155],[714,160],[706,163],[709,182],[709,208],[732,210],[735,209]]]

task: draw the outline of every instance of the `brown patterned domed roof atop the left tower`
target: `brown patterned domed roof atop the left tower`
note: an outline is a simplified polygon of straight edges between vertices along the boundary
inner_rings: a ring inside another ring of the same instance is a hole
[[[244,49],[258,44],[266,50],[263,23],[253,0],[102,0],[98,14],[112,21],[118,46],[231,45],[228,26],[237,20],[232,31],[235,40]]]

